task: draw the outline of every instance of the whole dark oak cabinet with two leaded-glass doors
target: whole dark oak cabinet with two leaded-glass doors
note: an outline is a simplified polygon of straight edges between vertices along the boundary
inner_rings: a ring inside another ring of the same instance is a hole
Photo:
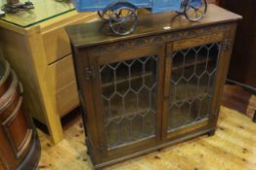
[[[195,23],[142,16],[123,37],[101,21],[66,28],[95,168],[214,134],[240,18],[210,5]]]

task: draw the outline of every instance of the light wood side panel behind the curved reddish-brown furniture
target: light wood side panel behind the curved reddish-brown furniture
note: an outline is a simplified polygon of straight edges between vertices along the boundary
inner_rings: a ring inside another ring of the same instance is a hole
[[[4,57],[10,62],[23,85],[23,103],[26,113],[45,123],[44,110],[40,101],[40,91],[35,79],[30,54],[26,51],[24,36],[5,28],[0,28],[0,44]]]

